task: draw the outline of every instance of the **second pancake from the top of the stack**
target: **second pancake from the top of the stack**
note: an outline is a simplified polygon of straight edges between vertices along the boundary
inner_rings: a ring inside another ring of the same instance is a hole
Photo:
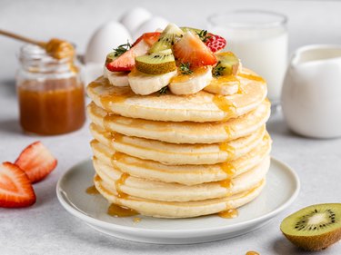
[[[89,118],[107,131],[173,143],[216,143],[236,140],[250,135],[264,125],[270,115],[270,102],[263,101],[254,111],[227,122],[171,123],[109,115],[104,109],[90,103]]]

